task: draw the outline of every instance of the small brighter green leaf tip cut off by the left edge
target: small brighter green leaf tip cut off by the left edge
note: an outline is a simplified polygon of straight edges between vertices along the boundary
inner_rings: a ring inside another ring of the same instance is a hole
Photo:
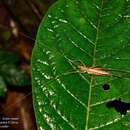
[[[4,97],[7,92],[6,84],[3,78],[0,76],[0,97]]]

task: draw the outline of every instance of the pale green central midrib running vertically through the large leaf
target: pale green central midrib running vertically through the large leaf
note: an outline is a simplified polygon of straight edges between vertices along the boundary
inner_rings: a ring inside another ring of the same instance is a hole
[[[101,17],[102,8],[103,8],[103,0],[101,1],[101,8],[100,8],[99,15],[98,15],[97,31],[96,31],[96,38],[95,38],[95,44],[94,44],[95,46],[94,46],[94,50],[93,50],[93,65],[92,65],[93,67],[96,65],[96,57],[95,56],[96,56],[97,42],[98,42],[98,38],[99,38],[100,17]],[[88,96],[85,130],[88,130],[88,124],[89,124],[89,113],[90,113],[90,104],[91,104],[91,94],[92,94],[93,80],[94,80],[94,76],[92,75],[91,80],[90,80],[90,86],[89,86],[89,96]]]

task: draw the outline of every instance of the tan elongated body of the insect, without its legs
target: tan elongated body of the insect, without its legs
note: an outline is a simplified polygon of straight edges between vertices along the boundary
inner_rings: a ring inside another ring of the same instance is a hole
[[[111,73],[106,72],[102,68],[92,68],[92,67],[79,66],[79,70],[82,73],[88,73],[88,74],[96,75],[96,76],[112,76]]]

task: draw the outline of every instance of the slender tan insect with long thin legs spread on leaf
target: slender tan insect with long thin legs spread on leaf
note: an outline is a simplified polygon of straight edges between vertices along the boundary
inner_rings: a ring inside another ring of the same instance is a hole
[[[44,46],[46,48],[48,48],[48,50],[50,50],[50,48],[48,46],[46,46],[46,45],[44,45]],[[71,60],[66,55],[64,55],[62,53],[59,53],[59,54],[63,55],[63,57],[70,63],[70,65],[72,66],[74,71],[65,72],[63,74],[60,74],[60,75],[56,76],[54,79],[57,79],[58,77],[63,76],[63,75],[70,75],[70,74],[76,74],[76,73],[78,73],[78,74],[87,73],[87,74],[95,75],[95,76],[114,76],[114,77],[117,77],[117,78],[123,78],[123,79],[130,80],[130,78],[128,77],[128,75],[130,76],[130,71],[128,71],[128,70],[119,70],[119,69],[111,69],[111,68],[98,68],[98,67],[87,67],[87,66],[85,66],[85,64],[81,60]],[[77,61],[80,62],[81,65],[77,65],[75,63]],[[125,77],[125,76],[127,76],[128,78]]]

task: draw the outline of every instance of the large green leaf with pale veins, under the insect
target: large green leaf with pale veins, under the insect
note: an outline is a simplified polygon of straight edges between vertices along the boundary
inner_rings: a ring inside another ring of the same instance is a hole
[[[80,61],[116,71],[109,72],[112,76],[76,73]],[[130,75],[124,73],[129,70],[130,0],[59,0],[42,21],[33,50],[38,128],[130,130],[130,114],[106,105],[119,98],[130,102]]]

